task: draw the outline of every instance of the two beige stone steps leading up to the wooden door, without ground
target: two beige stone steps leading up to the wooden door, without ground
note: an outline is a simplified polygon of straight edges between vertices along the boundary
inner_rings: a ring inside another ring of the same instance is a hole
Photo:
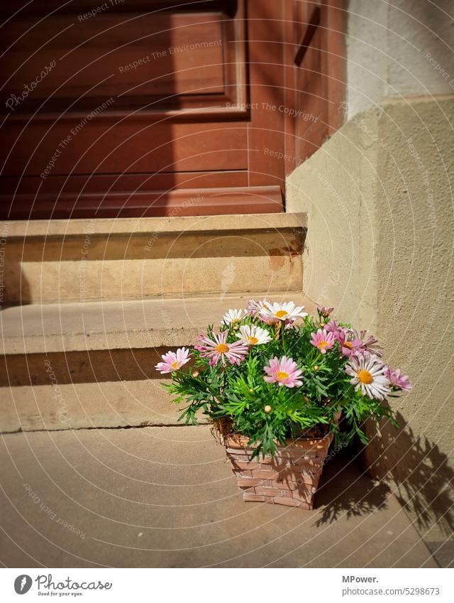
[[[3,225],[5,229],[5,225]],[[0,425],[175,425],[154,366],[251,297],[301,300],[305,216],[9,222]]]

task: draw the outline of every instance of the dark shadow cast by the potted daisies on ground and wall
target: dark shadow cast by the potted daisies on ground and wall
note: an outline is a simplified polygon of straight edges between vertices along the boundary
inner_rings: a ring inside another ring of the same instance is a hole
[[[394,494],[421,536],[433,526],[445,538],[453,536],[454,470],[448,457],[428,438],[416,437],[402,414],[397,420],[398,430],[389,423],[380,430],[369,426],[361,462],[354,449],[331,449],[316,494],[317,525],[386,509]]]

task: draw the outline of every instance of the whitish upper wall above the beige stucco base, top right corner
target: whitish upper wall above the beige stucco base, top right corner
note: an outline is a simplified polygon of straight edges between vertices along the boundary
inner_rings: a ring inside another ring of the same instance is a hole
[[[452,0],[349,0],[348,119],[384,98],[454,92]]]

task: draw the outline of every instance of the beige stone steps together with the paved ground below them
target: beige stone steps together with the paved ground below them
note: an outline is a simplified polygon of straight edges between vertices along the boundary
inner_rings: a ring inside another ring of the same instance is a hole
[[[154,369],[227,308],[302,297],[306,217],[0,224],[0,555],[9,567],[436,567],[333,454],[314,511],[245,504]]]

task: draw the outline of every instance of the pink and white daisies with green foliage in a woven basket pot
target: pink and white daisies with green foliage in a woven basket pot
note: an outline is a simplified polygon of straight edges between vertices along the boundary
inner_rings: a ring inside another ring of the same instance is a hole
[[[179,420],[195,424],[200,411],[212,420],[246,501],[312,509],[333,438],[367,443],[367,418],[397,425],[386,401],[411,389],[408,376],[384,364],[377,339],[332,312],[250,300],[192,352],[167,352],[156,365],[172,374],[175,402],[187,403]]]

